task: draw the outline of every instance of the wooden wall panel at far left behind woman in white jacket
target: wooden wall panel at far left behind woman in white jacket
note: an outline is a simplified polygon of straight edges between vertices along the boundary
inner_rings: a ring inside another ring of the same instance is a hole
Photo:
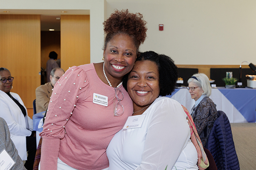
[[[0,15],[0,67],[11,71],[12,92],[26,108],[33,108],[35,89],[41,84],[40,15]]]

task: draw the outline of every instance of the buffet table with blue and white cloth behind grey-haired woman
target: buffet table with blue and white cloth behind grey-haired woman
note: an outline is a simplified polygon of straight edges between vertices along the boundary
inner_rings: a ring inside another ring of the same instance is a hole
[[[186,88],[176,88],[168,96],[191,111],[195,100]],[[217,111],[224,111],[230,123],[256,122],[256,89],[252,88],[212,88],[210,96]]]

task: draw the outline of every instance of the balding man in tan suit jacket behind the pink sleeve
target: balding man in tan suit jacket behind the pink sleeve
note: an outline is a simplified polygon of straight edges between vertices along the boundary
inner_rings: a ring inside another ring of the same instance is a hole
[[[46,111],[50,96],[52,95],[52,90],[55,83],[58,79],[64,74],[64,70],[62,68],[53,68],[50,75],[50,82],[45,83],[44,85],[39,86],[35,90],[35,108],[36,113]]]

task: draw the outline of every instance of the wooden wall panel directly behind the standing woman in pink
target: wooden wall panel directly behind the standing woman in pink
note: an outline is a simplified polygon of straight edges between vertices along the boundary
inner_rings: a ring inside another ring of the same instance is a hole
[[[90,63],[90,15],[61,15],[61,68]]]

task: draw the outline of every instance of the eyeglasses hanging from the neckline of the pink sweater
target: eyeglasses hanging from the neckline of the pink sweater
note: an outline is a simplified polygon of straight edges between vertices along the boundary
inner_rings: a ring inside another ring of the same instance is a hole
[[[113,102],[114,116],[121,116],[125,112],[121,101],[124,99],[124,94],[119,88],[115,88],[115,96]]]

